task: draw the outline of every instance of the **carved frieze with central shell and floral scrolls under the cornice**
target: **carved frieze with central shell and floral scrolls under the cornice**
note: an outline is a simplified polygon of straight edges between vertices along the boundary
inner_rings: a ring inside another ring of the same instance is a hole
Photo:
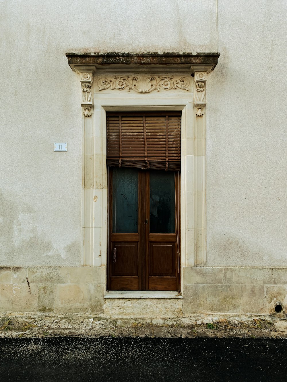
[[[98,80],[99,91],[106,89],[116,89],[137,93],[150,93],[154,90],[160,91],[171,89],[182,89],[189,91],[189,79],[181,76],[113,76],[102,77]]]

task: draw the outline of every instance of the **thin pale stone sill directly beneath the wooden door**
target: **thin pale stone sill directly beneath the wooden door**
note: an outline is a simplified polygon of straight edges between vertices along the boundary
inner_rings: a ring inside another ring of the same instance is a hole
[[[118,299],[118,298],[128,298],[128,299],[140,299],[140,298],[160,298],[160,299],[182,299],[183,296],[179,292],[174,291],[152,291],[152,290],[116,290],[106,292],[104,299]]]

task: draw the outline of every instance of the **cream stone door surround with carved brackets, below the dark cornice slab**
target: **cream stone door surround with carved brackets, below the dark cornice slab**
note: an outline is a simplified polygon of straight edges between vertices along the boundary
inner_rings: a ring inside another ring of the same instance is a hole
[[[83,266],[107,265],[106,112],[157,110],[182,113],[181,274],[183,267],[205,265],[206,81],[207,74],[215,65],[194,64],[189,65],[188,69],[186,66],[179,69],[174,66],[159,68],[153,65],[148,69],[145,66],[103,69],[98,65],[70,64],[80,76],[82,85]],[[159,86],[152,91],[150,83],[153,78],[167,78],[167,80],[155,83]],[[180,82],[183,81],[181,78],[188,79],[188,82],[183,84]],[[147,85],[146,91],[142,91],[144,89],[137,85],[139,81]],[[184,86],[181,86],[182,84]],[[182,280],[181,277],[181,290],[183,290]]]

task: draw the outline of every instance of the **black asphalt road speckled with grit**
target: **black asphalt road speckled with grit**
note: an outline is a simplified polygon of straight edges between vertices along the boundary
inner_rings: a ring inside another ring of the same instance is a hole
[[[287,339],[0,339],[5,382],[273,380],[287,380]]]

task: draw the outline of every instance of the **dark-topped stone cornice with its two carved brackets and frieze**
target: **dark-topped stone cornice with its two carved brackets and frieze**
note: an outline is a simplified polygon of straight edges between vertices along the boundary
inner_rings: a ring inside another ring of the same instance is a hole
[[[93,87],[96,92],[108,93],[186,92],[193,90],[190,76],[196,80],[197,116],[201,116],[206,104],[206,76],[214,70],[220,53],[85,52],[66,56],[70,68],[81,75],[85,117],[93,113]]]

